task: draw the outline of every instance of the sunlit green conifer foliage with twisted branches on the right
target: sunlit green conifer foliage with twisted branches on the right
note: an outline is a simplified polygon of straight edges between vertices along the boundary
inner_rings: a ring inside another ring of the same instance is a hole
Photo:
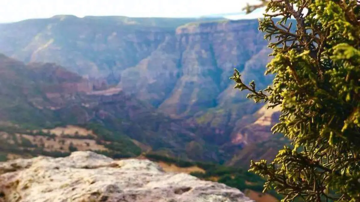
[[[261,6],[267,14],[259,29],[274,56],[265,74],[275,75],[273,84],[257,90],[236,69],[231,79],[255,102],[280,106],[272,130],[294,148],[284,146],[270,164],[252,161],[249,171],[282,201],[360,201],[360,2],[262,0],[247,12]]]

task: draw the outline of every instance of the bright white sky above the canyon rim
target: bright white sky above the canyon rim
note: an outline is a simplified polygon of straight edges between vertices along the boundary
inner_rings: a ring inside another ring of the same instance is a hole
[[[198,17],[242,12],[256,0],[0,0],[0,22],[49,18],[59,14],[129,17]],[[231,18],[258,18],[261,11]]]

